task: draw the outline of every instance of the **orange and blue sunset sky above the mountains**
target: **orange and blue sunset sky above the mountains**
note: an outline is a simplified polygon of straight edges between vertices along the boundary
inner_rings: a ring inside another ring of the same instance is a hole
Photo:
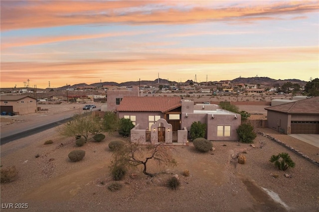
[[[319,78],[316,1],[1,0],[1,88]]]

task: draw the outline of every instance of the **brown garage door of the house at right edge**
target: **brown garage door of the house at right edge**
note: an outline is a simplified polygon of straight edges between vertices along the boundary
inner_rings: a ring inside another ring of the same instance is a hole
[[[319,121],[292,121],[291,134],[319,134]]]

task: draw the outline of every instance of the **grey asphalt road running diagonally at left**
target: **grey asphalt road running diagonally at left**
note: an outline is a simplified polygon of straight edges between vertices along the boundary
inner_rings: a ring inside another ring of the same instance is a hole
[[[94,110],[99,110],[100,108],[94,108]],[[86,112],[87,110],[83,111]],[[14,141],[16,139],[20,139],[23,137],[27,137],[29,135],[33,135],[44,130],[50,129],[52,127],[56,127],[62,123],[65,123],[72,119],[73,115],[76,112],[68,111],[63,113],[58,113],[50,116],[49,119],[43,119],[41,121],[35,121],[28,125],[18,125],[15,129],[2,131],[0,134],[0,145],[5,144],[10,141]]]

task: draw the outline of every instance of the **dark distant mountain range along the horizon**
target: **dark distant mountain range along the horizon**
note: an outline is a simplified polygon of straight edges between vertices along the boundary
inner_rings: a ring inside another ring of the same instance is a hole
[[[306,81],[302,81],[302,80],[298,80],[298,79],[288,79],[288,80],[275,80],[275,79],[271,79],[269,77],[249,77],[249,78],[236,78],[233,80],[222,80],[220,82],[228,82],[230,81],[232,84],[260,84],[260,85],[264,85],[264,86],[281,86],[287,82],[291,82],[292,84],[299,84],[301,86],[306,85]],[[148,85],[148,86],[158,86],[158,85],[163,85],[163,84],[177,84],[178,82],[175,81],[168,81],[165,79],[156,79],[154,81],[148,81],[148,80],[142,80],[142,81],[130,81],[130,82],[125,82],[125,83],[116,83],[116,82],[103,82],[103,83],[93,83],[93,84],[86,84],[86,83],[81,83],[81,84],[75,84],[72,86],[68,86],[68,88],[79,88],[79,87],[87,87],[87,86],[92,86],[92,87],[102,87],[102,86],[144,86],[144,85]],[[189,84],[189,83],[195,83],[192,80],[187,80],[186,82],[182,83],[182,84]],[[208,82],[210,83],[210,82]],[[214,83],[214,82],[212,82]],[[66,86],[60,87],[59,89],[65,89]]]

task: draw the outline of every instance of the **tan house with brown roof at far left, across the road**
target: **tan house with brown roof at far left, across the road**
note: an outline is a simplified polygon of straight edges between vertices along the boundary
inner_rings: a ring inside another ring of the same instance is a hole
[[[15,114],[28,114],[36,112],[36,98],[26,95],[1,95],[0,96],[1,114],[2,112]]]

